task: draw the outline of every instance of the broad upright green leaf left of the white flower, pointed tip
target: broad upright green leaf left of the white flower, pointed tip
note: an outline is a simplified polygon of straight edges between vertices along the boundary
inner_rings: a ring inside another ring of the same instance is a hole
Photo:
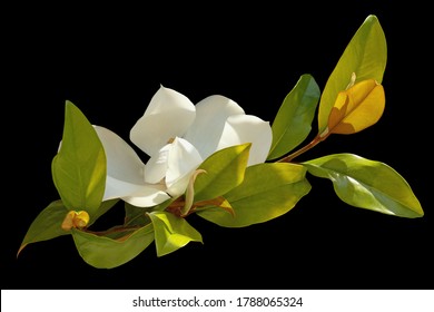
[[[92,125],[70,101],[66,104],[62,143],[51,169],[65,206],[95,217],[106,187],[106,155]]]

